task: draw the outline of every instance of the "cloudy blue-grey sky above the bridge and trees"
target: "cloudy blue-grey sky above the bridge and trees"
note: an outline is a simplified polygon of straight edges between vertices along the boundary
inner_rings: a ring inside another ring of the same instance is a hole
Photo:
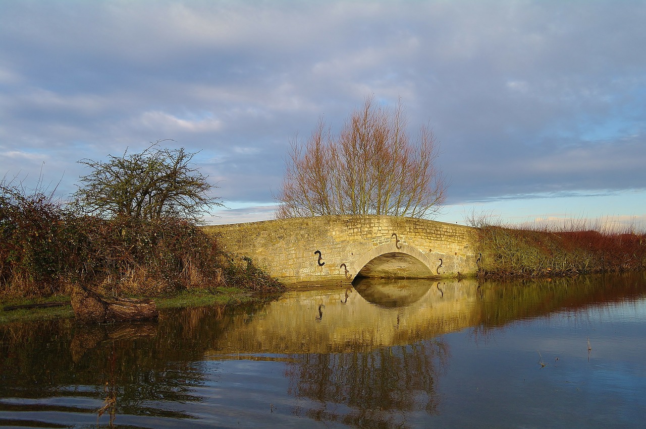
[[[273,219],[290,141],[366,97],[429,124],[435,220],[646,228],[646,1],[0,0],[0,178],[72,194],[149,142]],[[596,219],[596,220],[595,220]]]

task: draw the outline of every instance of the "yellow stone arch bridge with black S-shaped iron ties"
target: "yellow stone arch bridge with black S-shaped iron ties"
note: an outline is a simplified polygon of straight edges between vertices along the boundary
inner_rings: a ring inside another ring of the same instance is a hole
[[[318,216],[205,226],[226,252],[286,283],[474,275],[475,228],[392,216]]]

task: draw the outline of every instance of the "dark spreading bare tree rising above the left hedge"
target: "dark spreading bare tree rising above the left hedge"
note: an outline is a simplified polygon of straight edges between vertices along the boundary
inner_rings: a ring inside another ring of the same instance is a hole
[[[208,208],[222,206],[211,196],[208,177],[191,160],[196,153],[153,143],[139,154],[109,155],[107,162],[81,159],[93,171],[81,177],[74,201],[86,214],[101,217],[199,221]]]

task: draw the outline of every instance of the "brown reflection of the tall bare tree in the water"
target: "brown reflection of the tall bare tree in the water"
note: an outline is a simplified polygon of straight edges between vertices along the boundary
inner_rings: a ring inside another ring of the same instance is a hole
[[[317,421],[393,427],[405,424],[398,419],[409,412],[437,414],[435,381],[448,359],[448,347],[437,340],[372,352],[290,355],[288,393],[318,403],[304,412]]]

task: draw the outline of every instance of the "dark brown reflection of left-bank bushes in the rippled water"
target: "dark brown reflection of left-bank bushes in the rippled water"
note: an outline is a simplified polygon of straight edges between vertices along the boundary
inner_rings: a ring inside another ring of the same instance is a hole
[[[214,317],[215,316],[215,317]],[[39,406],[57,412],[195,417],[175,404],[196,403],[208,374],[201,361],[204,340],[222,332],[215,308],[184,309],[159,323],[76,324],[73,319],[0,325],[0,398],[94,399],[96,408]],[[202,331],[203,332],[203,331]],[[8,370],[3,370],[8,368]],[[106,401],[108,398],[114,401]],[[32,404],[12,404],[28,411]],[[6,404],[0,406],[5,410]],[[105,418],[105,417],[104,417]]]

